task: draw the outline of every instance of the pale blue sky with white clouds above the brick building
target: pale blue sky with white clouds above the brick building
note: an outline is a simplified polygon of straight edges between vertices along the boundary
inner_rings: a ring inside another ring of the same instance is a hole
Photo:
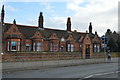
[[[5,22],[38,26],[43,12],[44,27],[66,30],[71,17],[72,31],[86,32],[92,22],[93,33],[99,36],[107,29],[118,31],[118,0],[1,0],[5,6]]]

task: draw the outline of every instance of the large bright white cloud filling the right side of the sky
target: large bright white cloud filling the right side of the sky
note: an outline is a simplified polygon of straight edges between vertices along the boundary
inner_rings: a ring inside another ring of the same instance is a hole
[[[81,0],[81,2],[75,0],[68,2],[66,7],[75,13],[71,16],[73,29],[85,31],[88,29],[89,22],[93,22],[93,31],[103,35],[108,28],[112,31],[118,29],[117,5],[117,0]]]

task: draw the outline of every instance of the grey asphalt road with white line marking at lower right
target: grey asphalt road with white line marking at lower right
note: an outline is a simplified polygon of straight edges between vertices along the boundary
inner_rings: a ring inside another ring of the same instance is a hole
[[[114,62],[10,72],[3,78],[118,78],[117,72],[118,63]]]

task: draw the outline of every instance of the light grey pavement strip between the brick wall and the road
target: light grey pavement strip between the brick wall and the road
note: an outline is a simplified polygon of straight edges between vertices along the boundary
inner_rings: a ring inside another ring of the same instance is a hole
[[[31,70],[49,67],[64,67],[83,64],[113,63],[118,62],[118,58],[106,59],[78,59],[78,60],[55,60],[55,61],[29,61],[29,62],[2,62],[2,71]]]

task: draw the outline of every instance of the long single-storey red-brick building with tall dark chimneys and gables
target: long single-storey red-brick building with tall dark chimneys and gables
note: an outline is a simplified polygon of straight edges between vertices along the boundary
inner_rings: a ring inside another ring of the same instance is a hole
[[[43,13],[40,12],[38,26],[26,26],[4,22],[4,6],[1,11],[3,30],[3,51],[61,51],[82,52],[89,57],[93,52],[100,52],[100,38],[92,33],[92,23],[89,32],[71,30],[71,19],[67,18],[66,30],[45,28]]]

